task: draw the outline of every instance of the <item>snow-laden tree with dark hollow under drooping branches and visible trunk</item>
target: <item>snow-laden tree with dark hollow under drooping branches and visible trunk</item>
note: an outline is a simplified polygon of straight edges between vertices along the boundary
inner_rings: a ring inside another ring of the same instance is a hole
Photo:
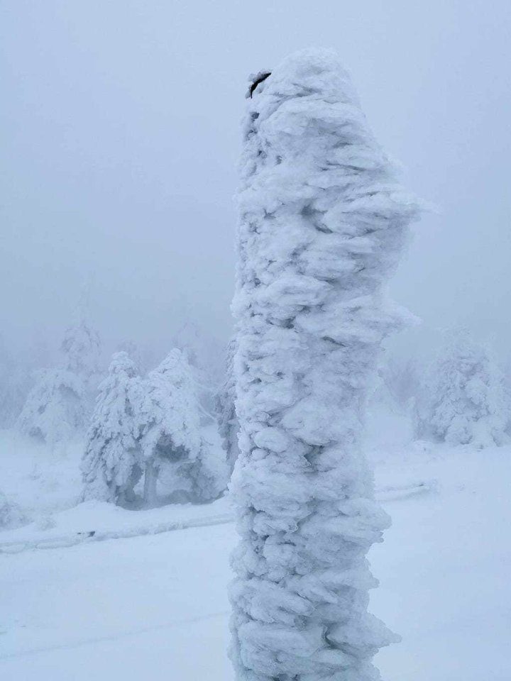
[[[158,478],[169,500],[207,502],[226,487],[224,450],[204,437],[194,373],[177,348],[144,382],[141,447],[148,506],[158,502]]]

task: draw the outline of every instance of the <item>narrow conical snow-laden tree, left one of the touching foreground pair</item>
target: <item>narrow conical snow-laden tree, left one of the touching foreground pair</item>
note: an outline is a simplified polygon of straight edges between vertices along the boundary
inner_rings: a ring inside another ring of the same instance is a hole
[[[143,473],[140,406],[143,389],[128,353],[116,353],[99,385],[82,459],[83,498],[130,506]]]

